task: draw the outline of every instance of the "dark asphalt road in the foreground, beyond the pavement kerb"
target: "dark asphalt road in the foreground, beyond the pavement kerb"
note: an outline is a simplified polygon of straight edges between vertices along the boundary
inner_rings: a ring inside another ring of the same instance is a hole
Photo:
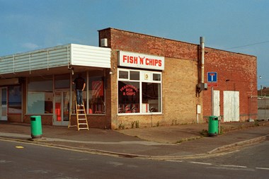
[[[0,178],[268,178],[269,142],[217,158],[157,161],[0,141]]]

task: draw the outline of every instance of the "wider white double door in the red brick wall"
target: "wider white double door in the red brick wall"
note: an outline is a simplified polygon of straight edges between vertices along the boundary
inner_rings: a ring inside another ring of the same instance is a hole
[[[239,91],[224,91],[224,122],[239,121]]]

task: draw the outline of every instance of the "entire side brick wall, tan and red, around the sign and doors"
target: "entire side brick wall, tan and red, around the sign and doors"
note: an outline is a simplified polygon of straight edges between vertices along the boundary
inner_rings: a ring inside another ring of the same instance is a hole
[[[99,31],[99,40],[108,38],[108,47],[112,49],[111,69],[111,122],[113,128],[120,124],[130,127],[139,120],[142,126],[171,125],[196,122],[196,105],[202,105],[202,114],[207,119],[211,115],[211,92],[202,91],[196,96],[196,85],[199,83],[199,45],[176,40],[168,40],[151,35],[132,33],[114,28]],[[153,54],[165,57],[163,71],[163,115],[118,116],[117,104],[117,51]],[[248,116],[248,97],[256,94],[256,57],[236,54],[222,50],[206,48],[205,82],[207,71],[217,71],[223,103],[223,91],[240,91],[241,120]],[[229,82],[226,81],[229,79]],[[223,115],[223,108],[221,108]],[[256,111],[252,111],[256,112]],[[152,119],[152,120],[151,120]],[[204,120],[205,121],[205,120]]]

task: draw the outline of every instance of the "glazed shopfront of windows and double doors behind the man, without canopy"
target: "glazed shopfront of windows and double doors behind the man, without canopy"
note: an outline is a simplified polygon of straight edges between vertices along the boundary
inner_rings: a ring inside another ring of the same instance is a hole
[[[53,125],[67,126],[70,118],[76,115],[76,94],[72,81],[78,74],[86,81],[86,114],[105,115],[105,69],[79,71],[74,75],[69,73],[28,77],[26,115],[51,115]]]

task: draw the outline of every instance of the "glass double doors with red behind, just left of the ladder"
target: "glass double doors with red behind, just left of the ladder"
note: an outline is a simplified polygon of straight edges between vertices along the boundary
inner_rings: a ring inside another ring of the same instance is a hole
[[[55,91],[54,125],[69,124],[70,91]]]

